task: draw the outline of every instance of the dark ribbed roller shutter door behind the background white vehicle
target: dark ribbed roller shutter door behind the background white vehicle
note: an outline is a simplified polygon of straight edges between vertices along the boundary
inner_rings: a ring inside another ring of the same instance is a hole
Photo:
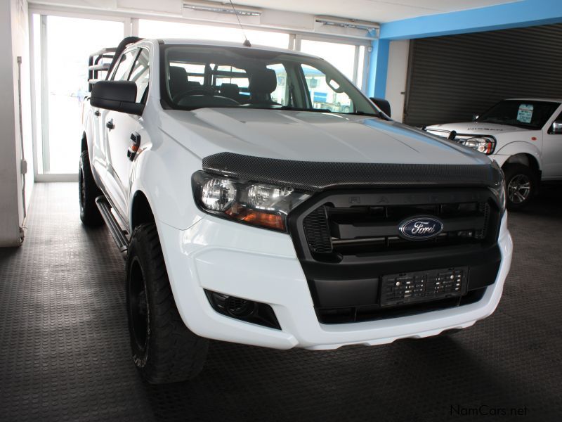
[[[405,122],[471,120],[503,98],[562,98],[562,24],[415,39]]]

